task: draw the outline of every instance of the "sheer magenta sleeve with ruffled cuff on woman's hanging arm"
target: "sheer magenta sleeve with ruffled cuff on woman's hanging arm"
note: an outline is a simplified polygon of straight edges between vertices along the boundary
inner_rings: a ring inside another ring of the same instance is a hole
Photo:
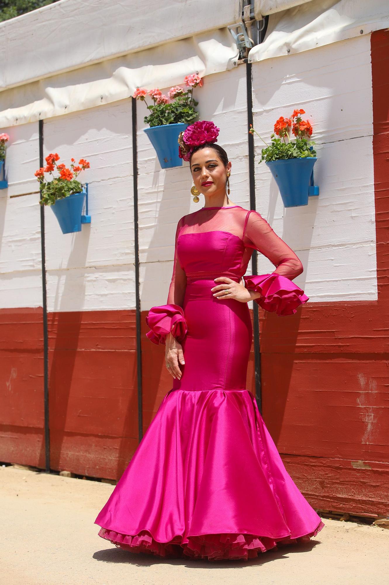
[[[157,345],[159,343],[166,345],[166,336],[169,333],[172,333],[173,337],[179,342],[185,339],[187,333],[187,324],[182,308],[186,289],[186,274],[180,264],[177,252],[177,240],[183,225],[183,219],[179,220],[176,229],[173,274],[169,286],[168,300],[166,305],[151,307],[145,317],[146,323],[150,327],[150,331],[146,333],[146,336]]]

